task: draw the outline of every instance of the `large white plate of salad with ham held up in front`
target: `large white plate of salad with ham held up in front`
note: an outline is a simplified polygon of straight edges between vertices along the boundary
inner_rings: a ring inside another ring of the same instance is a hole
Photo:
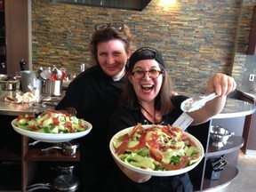
[[[204,156],[199,140],[171,125],[137,124],[126,128],[112,137],[109,148],[124,167],[152,176],[188,172]]]

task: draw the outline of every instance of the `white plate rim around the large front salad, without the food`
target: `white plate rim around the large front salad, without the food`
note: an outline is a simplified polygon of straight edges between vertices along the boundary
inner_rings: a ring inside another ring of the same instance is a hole
[[[148,128],[152,125],[142,125],[144,128]],[[160,125],[159,125],[160,126]],[[135,167],[135,166],[132,166],[131,164],[125,164],[121,159],[118,158],[118,156],[116,155],[115,153],[115,148],[113,146],[113,140],[114,138],[116,137],[119,137],[121,135],[124,135],[125,133],[129,132],[132,128],[132,127],[128,127],[120,132],[117,132],[113,137],[112,139],[110,140],[109,142],[109,148],[110,148],[110,151],[111,151],[111,154],[112,156],[114,156],[114,158],[116,159],[117,162],[119,162],[120,164],[123,164],[124,167],[128,168],[128,169],[131,169],[132,171],[134,172],[140,172],[142,174],[147,174],[147,175],[152,175],[152,176],[160,176],[160,177],[163,177],[163,176],[173,176],[173,175],[179,175],[179,174],[182,174],[184,172],[189,172],[190,170],[194,169],[196,167],[197,164],[199,164],[201,162],[201,160],[203,159],[203,156],[204,156],[204,148],[201,144],[201,142],[199,140],[197,140],[193,135],[189,134],[188,132],[185,132],[185,134],[195,142],[197,148],[199,149],[199,153],[200,153],[200,158],[198,159],[198,161],[195,163],[195,164],[192,164],[188,167],[185,167],[183,169],[180,169],[180,170],[173,170],[173,171],[153,171],[153,170],[145,170],[145,169],[140,169],[140,167]]]

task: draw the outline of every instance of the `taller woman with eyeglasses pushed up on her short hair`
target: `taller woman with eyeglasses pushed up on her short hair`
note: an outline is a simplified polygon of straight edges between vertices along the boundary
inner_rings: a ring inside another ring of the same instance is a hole
[[[92,131],[79,140],[81,182],[86,192],[103,191],[111,170],[108,119],[123,90],[125,66],[134,51],[133,37],[126,25],[96,25],[91,41],[96,65],[76,76],[56,107],[75,108],[77,117],[92,124]]]

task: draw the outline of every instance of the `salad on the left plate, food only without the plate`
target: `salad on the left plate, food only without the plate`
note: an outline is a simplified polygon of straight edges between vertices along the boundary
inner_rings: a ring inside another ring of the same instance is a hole
[[[31,132],[45,133],[72,133],[84,132],[89,129],[83,119],[71,116],[68,112],[57,110],[45,110],[44,113],[35,116],[18,116],[15,125],[20,129]]]

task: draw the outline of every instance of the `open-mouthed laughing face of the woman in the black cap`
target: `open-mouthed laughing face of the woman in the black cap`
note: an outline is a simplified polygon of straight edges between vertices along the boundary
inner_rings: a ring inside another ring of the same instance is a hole
[[[149,71],[152,69],[161,70],[156,60],[140,60],[134,65],[132,71]],[[130,75],[129,80],[133,85],[138,100],[140,100],[140,102],[151,102],[156,99],[158,92],[160,92],[163,83],[163,75],[161,74],[155,79],[150,78],[148,73],[141,79]]]

